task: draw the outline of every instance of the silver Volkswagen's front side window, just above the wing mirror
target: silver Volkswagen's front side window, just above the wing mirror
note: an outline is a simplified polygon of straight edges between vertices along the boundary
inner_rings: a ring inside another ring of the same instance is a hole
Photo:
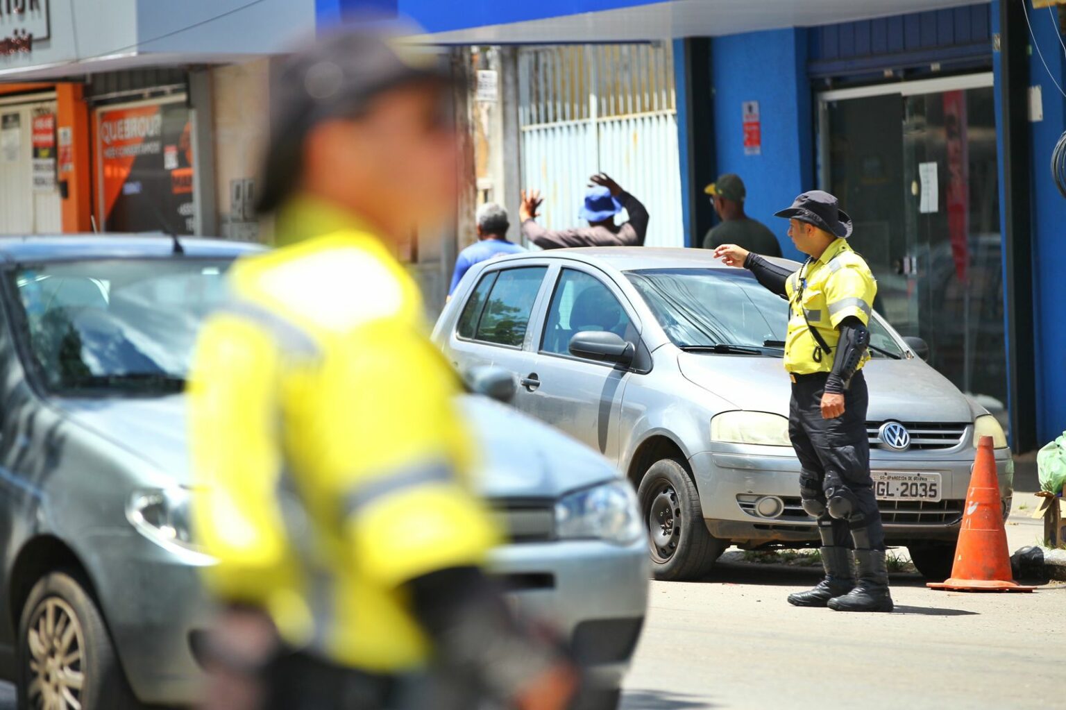
[[[602,281],[564,269],[551,297],[540,351],[569,355],[570,338],[586,330],[607,330],[630,341],[636,338],[626,309]]]

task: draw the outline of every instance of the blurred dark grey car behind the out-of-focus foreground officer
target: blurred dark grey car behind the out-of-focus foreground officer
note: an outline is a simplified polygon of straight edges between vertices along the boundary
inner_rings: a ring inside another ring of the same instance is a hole
[[[260,247],[162,237],[0,239],[0,678],[20,707],[196,698],[212,606],[190,532],[182,393],[232,261]],[[613,708],[640,638],[646,542],[601,456],[486,398],[459,405],[511,543],[492,567]]]

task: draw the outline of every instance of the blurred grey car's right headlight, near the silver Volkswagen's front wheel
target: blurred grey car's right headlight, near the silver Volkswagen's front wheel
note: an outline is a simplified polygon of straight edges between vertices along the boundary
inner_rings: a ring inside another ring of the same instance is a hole
[[[644,534],[636,494],[627,481],[612,481],[572,493],[555,503],[561,538],[603,539],[629,545]]]

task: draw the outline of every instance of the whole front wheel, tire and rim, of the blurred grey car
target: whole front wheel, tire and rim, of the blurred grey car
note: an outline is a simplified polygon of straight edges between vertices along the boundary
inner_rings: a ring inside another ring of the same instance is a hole
[[[103,616],[86,586],[76,575],[53,571],[30,591],[18,625],[19,708],[144,707],[130,690]],[[49,704],[56,697],[64,703]]]

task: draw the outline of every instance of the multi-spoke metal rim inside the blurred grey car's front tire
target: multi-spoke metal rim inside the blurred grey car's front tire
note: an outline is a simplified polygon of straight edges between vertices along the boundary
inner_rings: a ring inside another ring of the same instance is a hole
[[[43,599],[30,617],[27,643],[30,707],[81,710],[85,638],[74,609],[59,597]]]

